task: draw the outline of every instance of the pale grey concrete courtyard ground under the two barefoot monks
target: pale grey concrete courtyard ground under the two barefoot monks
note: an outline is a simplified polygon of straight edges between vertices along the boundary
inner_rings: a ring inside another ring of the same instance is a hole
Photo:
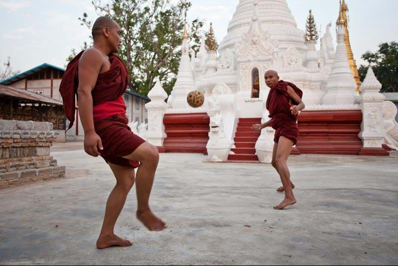
[[[56,144],[67,177],[0,190],[0,265],[397,265],[398,156],[292,156],[298,203],[286,210],[270,165],[161,154],[151,197],[169,228],[135,219],[134,191],[116,233],[133,247],[97,250],[107,165],[82,143]]]

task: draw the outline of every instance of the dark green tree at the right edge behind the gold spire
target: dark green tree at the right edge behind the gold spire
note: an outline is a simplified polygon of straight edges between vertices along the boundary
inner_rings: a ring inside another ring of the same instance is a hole
[[[382,43],[376,53],[366,52],[361,57],[368,66],[358,69],[361,81],[365,79],[368,67],[372,67],[376,78],[383,85],[382,92],[398,92],[398,43]]]

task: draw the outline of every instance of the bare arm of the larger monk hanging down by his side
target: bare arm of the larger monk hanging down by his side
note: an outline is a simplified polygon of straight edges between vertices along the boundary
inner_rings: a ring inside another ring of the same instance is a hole
[[[97,157],[102,148],[100,137],[94,130],[93,97],[91,91],[97,83],[103,64],[102,54],[97,49],[88,49],[79,60],[79,114],[85,132],[85,151]]]

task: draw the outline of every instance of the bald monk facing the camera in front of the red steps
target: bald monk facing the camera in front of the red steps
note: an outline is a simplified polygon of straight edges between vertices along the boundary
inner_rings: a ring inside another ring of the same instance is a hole
[[[287,161],[298,139],[298,112],[304,109],[305,105],[301,100],[302,91],[293,83],[280,81],[275,70],[267,71],[264,78],[267,86],[271,88],[266,104],[271,120],[264,124],[253,125],[252,128],[261,131],[265,127],[272,126],[275,129],[272,166],[281,177],[283,185],[277,191],[285,191],[285,199],[274,206],[274,209],[281,210],[296,203],[293,194],[295,185],[290,180]]]

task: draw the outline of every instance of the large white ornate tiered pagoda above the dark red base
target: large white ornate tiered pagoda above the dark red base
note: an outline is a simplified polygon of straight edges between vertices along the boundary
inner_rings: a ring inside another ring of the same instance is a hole
[[[316,41],[305,42],[305,33],[297,28],[286,0],[240,0],[217,51],[205,47],[202,37],[195,54],[189,48],[185,31],[180,70],[165,114],[206,113],[211,119],[219,113],[223,131],[232,141],[239,119],[267,115],[264,101],[269,88],[263,77],[269,69],[303,90],[307,111],[361,111],[360,82],[357,86],[354,80],[352,71],[357,74],[357,70],[356,65],[352,68],[355,61],[347,41],[347,10],[343,0],[336,22],[336,49],[331,23],[320,38],[320,50],[316,51]],[[257,95],[253,88],[259,90]],[[200,108],[185,102],[193,89],[205,94]],[[379,112],[383,116],[382,109]],[[381,148],[379,144],[377,147]]]

